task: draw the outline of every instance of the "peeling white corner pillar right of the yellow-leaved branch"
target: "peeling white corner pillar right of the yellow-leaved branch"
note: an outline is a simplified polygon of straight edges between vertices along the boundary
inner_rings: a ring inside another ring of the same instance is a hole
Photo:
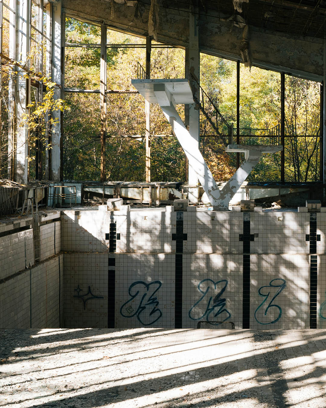
[[[64,37],[62,38],[62,9],[61,0],[52,6],[52,82],[55,86],[54,99],[63,98],[64,83],[62,75],[62,53]],[[61,87],[61,89],[60,89]],[[50,180],[59,182],[61,173],[61,145],[62,145],[62,115],[61,111],[52,111],[52,118],[57,122],[52,126],[52,149],[51,149],[51,171]]]

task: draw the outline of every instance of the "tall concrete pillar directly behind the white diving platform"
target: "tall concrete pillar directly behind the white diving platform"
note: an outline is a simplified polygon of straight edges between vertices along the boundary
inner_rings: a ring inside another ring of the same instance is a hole
[[[199,82],[199,14],[198,7],[192,7],[189,13],[189,51],[186,51],[186,55],[189,55],[188,65],[189,70],[198,79]],[[195,83],[195,86],[197,84]],[[199,97],[199,89],[195,91],[196,97]],[[199,109],[196,109],[196,104],[189,105],[189,133],[192,139],[199,145]],[[189,163],[188,166],[188,183],[191,186],[198,185],[198,177],[196,171]],[[198,202],[199,187],[189,188],[189,202]]]

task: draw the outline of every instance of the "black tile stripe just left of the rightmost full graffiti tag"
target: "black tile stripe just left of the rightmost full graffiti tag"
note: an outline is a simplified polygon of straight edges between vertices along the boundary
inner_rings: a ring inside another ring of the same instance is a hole
[[[243,213],[243,275],[242,275],[242,328],[250,325],[250,213]],[[240,237],[239,237],[240,239]]]

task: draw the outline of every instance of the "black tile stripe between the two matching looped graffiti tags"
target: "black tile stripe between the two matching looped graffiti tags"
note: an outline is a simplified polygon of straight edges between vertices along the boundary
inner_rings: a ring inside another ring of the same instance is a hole
[[[176,240],[175,258],[175,309],[174,326],[176,329],[182,328],[182,253],[183,253],[183,212],[176,212],[176,233],[172,234],[172,239]]]

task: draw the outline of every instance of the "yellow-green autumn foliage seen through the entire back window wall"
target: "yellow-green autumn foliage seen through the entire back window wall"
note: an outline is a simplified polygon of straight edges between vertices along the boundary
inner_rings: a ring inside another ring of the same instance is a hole
[[[100,29],[91,24],[66,19],[66,41],[99,44]],[[142,38],[108,30],[109,44],[144,44]],[[155,44],[155,42],[152,42]],[[145,50],[108,47],[107,88],[132,89],[137,78],[137,61],[145,66]],[[100,49],[66,47],[67,87],[99,89]],[[183,78],[184,51],[153,48],[151,78]],[[309,181],[319,177],[319,94],[313,82],[287,77],[286,133],[314,137],[286,138],[286,180]],[[269,129],[280,123],[280,74],[240,65],[240,143],[269,144]],[[200,82],[227,123],[236,126],[236,63],[211,55],[201,55]],[[64,114],[64,177],[99,180],[100,110],[99,95],[67,94],[70,111]],[[135,94],[108,94],[106,115],[106,178],[145,180],[144,100]],[[205,101],[211,115],[216,111]],[[178,106],[184,118],[183,107]],[[227,126],[218,117],[218,128],[227,135]],[[205,117],[200,133],[215,134]],[[172,129],[161,109],[151,105],[151,135],[171,135]],[[245,135],[250,134],[249,137]],[[140,135],[134,140],[129,135]],[[218,137],[202,137],[200,149],[216,180],[228,180],[234,173],[236,155],[226,154]],[[241,160],[243,158],[241,157]],[[186,179],[185,155],[176,137],[151,137],[151,180]],[[280,180],[280,153],[263,155],[248,180]]]

